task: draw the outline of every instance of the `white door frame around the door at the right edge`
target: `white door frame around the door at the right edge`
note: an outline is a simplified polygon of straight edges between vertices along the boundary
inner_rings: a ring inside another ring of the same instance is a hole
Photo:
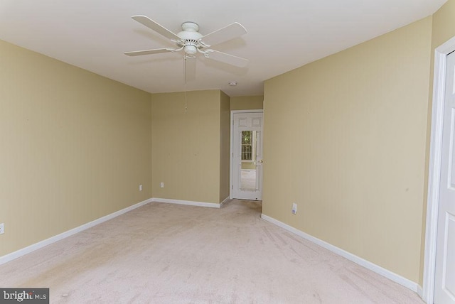
[[[439,185],[442,156],[442,126],[444,123],[444,98],[446,87],[447,55],[455,50],[455,37],[434,50],[434,80],[432,126],[429,147],[427,225],[425,229],[424,282],[422,299],[434,302],[434,271],[436,269]]]

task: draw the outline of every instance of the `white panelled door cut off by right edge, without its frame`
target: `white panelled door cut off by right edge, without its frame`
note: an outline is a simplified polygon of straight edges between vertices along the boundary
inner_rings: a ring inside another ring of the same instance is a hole
[[[455,303],[455,53],[447,56],[434,303]]]

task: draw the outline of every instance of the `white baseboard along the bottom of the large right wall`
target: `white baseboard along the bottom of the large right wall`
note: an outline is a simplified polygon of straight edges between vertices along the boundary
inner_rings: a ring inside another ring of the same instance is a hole
[[[282,228],[286,229],[287,231],[298,235],[299,237],[303,237],[304,239],[307,239],[308,241],[311,241],[314,244],[318,244],[319,246],[321,246],[325,249],[328,249],[340,256],[343,256],[343,258],[353,261],[355,264],[358,264],[367,269],[370,269],[370,271],[374,271],[375,273],[378,273],[381,276],[385,276],[385,278],[388,278],[396,283],[399,283],[400,285],[405,286],[406,288],[409,288],[411,291],[414,291],[415,293],[419,293],[419,289],[420,289],[420,292],[422,293],[422,288],[417,283],[410,281],[407,278],[404,278],[397,273],[393,273],[392,271],[389,271],[385,268],[382,268],[381,266],[373,264],[370,261],[360,258],[359,256],[355,256],[354,254],[351,254],[348,251],[345,251],[341,248],[328,244],[326,241],[322,241],[321,239],[312,237],[311,235],[306,234],[305,232],[301,232],[300,230],[295,229],[294,227],[284,224],[283,222],[279,222],[279,220],[277,220],[277,219],[268,217],[267,215],[264,215],[264,214],[261,215],[261,218],[265,219],[267,222],[276,224],[277,226],[282,227]]]

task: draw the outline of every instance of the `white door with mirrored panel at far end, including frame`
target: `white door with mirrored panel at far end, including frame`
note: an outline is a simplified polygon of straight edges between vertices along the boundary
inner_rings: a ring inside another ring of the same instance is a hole
[[[232,198],[262,200],[262,112],[232,121]]]

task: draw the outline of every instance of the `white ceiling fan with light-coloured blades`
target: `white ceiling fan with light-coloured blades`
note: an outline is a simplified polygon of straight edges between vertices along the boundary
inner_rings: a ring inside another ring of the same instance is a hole
[[[245,58],[210,49],[211,45],[223,43],[247,33],[247,30],[240,23],[235,22],[229,26],[220,28],[217,31],[208,33],[207,35],[202,35],[199,33],[198,24],[188,21],[182,23],[182,31],[176,34],[169,31],[164,26],[161,26],[156,21],[151,20],[147,16],[138,15],[132,16],[132,18],[147,28],[156,31],[156,33],[159,33],[162,36],[170,39],[176,45],[176,48],[136,50],[133,52],[126,52],[124,53],[125,55],[150,55],[168,52],[179,52],[183,50],[185,59],[196,58],[196,54],[201,53],[205,56],[205,58],[217,60],[222,63],[228,63],[229,65],[235,65],[236,67],[245,67],[248,63],[248,60]]]

